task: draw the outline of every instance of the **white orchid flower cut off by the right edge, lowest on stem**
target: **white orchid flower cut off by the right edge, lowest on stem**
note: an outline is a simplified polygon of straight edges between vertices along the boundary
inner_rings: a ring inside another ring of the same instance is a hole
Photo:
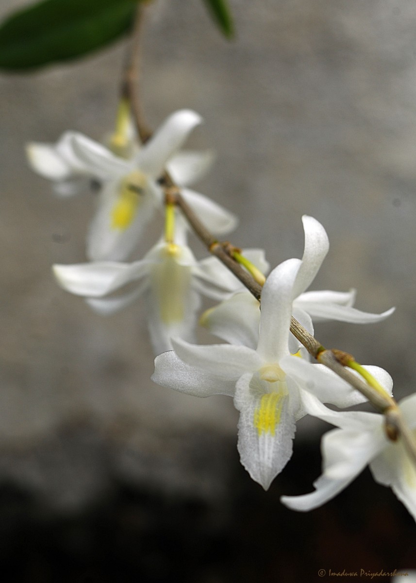
[[[393,382],[389,381],[391,388]],[[399,403],[404,420],[416,431],[416,394]],[[314,410],[315,409],[315,410]],[[369,465],[376,482],[390,486],[416,520],[416,467],[400,437],[387,439],[385,419],[379,413],[336,412],[311,402],[309,412],[339,427],[322,438],[323,473],[313,483],[315,491],[304,496],[283,496],[292,510],[308,511],[331,500]]]

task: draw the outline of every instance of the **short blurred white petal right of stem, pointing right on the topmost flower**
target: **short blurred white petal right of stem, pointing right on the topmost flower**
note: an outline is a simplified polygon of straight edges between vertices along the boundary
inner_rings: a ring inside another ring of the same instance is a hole
[[[176,184],[188,186],[207,173],[212,166],[214,158],[213,150],[178,152],[171,157],[166,167]]]

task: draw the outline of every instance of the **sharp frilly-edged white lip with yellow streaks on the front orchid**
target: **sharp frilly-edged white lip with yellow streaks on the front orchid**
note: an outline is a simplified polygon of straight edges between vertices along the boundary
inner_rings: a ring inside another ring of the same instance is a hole
[[[241,463],[265,490],[289,461],[295,435],[288,391],[282,388],[267,393],[267,385],[285,383],[269,383],[245,374],[237,381],[234,396],[240,412],[237,447]]]

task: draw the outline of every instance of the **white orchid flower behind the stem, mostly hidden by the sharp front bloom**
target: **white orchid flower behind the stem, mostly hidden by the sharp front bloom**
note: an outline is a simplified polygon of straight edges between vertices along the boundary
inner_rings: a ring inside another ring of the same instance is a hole
[[[394,312],[390,308],[382,314],[370,314],[352,308],[355,290],[305,291],[315,279],[329,250],[325,229],[313,217],[304,215],[302,223],[305,232],[305,247],[302,265],[294,287],[292,315],[313,334],[312,321],[336,320],[354,324],[380,322]],[[260,304],[249,291],[224,300],[211,308],[202,318],[202,324],[219,338],[227,342],[241,343],[255,347],[260,323]],[[244,318],[241,315],[244,314]],[[298,343],[291,336],[291,352],[298,350]]]

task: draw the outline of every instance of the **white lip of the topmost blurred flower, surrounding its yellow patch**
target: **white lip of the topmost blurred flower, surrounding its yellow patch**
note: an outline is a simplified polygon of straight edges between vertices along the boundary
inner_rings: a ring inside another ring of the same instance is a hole
[[[91,261],[125,261],[138,244],[143,231],[154,214],[153,199],[147,194],[138,196],[131,224],[115,227],[112,213],[118,202],[119,181],[108,182],[100,192],[98,209],[87,235],[87,258]]]

